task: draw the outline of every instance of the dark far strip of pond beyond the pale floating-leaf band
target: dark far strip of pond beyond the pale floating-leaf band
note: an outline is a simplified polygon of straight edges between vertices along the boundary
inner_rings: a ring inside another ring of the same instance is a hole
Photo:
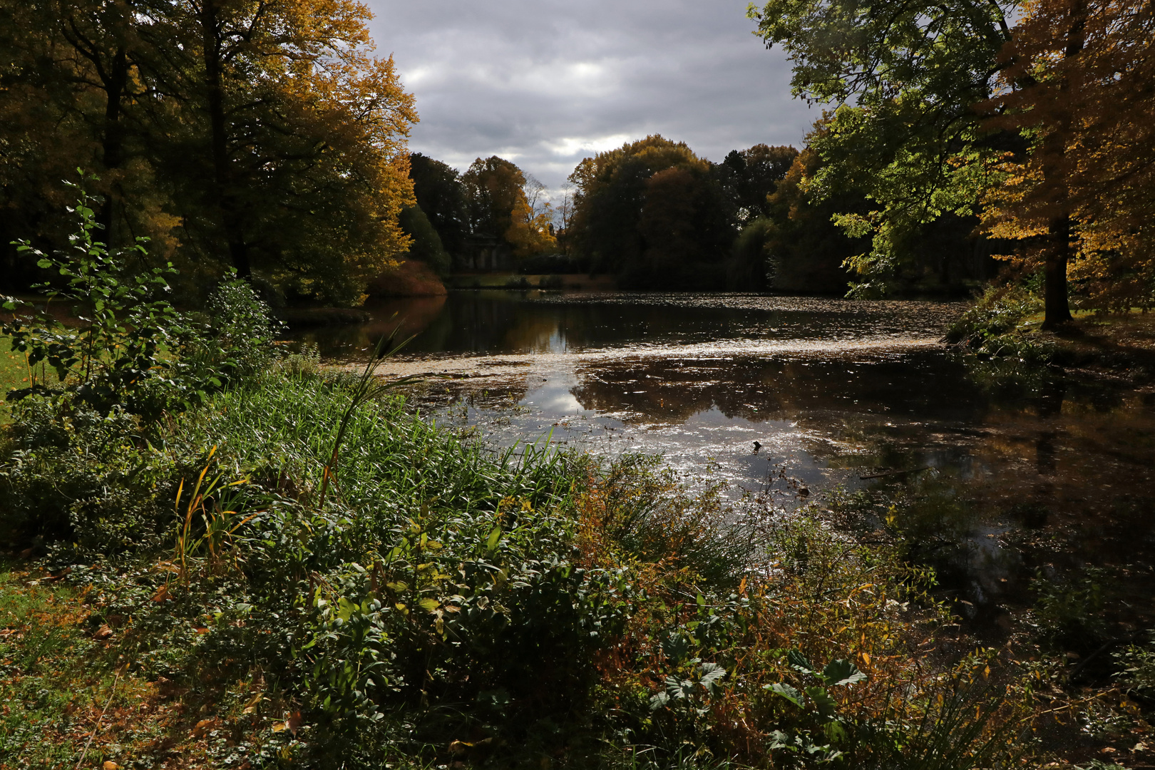
[[[566,353],[616,346],[655,347],[718,339],[822,339],[940,336],[957,307],[936,302],[851,302],[751,294],[550,293],[455,291],[448,298],[366,306],[365,326],[306,329],[298,339],[322,356],[355,358],[392,329],[394,314],[409,352],[492,356]]]

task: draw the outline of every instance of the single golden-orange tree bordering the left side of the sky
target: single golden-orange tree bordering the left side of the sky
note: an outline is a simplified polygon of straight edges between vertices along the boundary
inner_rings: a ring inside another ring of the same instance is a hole
[[[404,251],[417,120],[352,0],[174,0],[149,7],[154,114],[202,259],[223,251],[306,294],[355,300]]]

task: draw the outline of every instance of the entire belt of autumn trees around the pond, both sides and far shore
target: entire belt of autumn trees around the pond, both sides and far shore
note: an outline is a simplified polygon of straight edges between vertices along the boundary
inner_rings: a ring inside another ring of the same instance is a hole
[[[1152,9],[888,8],[751,7],[795,95],[830,107],[802,152],[711,163],[648,136],[550,200],[495,156],[459,173],[409,155],[413,97],[352,0],[3,0],[5,285],[40,277],[10,241],[65,242],[61,180],[83,169],[104,239],[149,238],[189,298],[233,268],[269,297],[356,305],[398,261],[444,274],[489,249],[670,290],[877,297],[1001,270],[1040,285],[1049,324],[1072,289],[1087,309],[1155,301]]]

